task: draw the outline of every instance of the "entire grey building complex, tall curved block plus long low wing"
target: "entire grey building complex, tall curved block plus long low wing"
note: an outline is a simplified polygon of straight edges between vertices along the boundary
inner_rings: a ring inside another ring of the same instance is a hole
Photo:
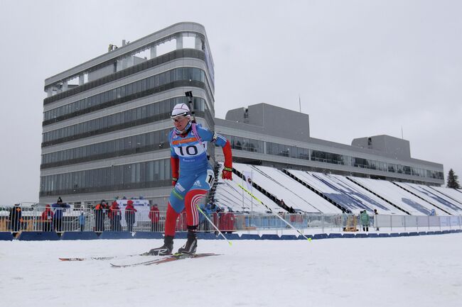
[[[230,139],[237,162],[442,184],[443,166],[412,159],[387,135],[343,145],[311,138],[308,115],[268,104],[215,118],[214,68],[205,28],[176,23],[45,79],[40,202],[90,203],[171,192],[173,106],[193,91],[198,123]],[[274,125],[278,123],[278,125]],[[285,125],[297,123],[297,125]],[[221,150],[209,148],[211,160]]]

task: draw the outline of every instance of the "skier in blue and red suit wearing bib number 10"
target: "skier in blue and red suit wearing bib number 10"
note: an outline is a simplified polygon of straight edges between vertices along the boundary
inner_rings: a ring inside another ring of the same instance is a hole
[[[232,179],[232,154],[229,140],[191,121],[191,112],[186,104],[176,104],[171,118],[175,126],[168,135],[173,189],[168,199],[163,245],[150,250],[149,255],[171,255],[176,220],[185,207],[188,240],[178,252],[195,253],[198,245],[196,231],[199,224],[196,204],[208,193],[215,180],[213,168],[207,157],[208,142],[222,147],[225,156],[222,179]]]

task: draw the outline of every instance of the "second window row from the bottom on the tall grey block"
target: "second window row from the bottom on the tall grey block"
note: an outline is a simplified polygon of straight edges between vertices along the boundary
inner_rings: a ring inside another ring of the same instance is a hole
[[[120,155],[132,155],[138,152],[161,150],[168,147],[168,133],[171,128],[131,135],[127,138],[70,148],[42,155],[41,168],[55,167],[90,160],[105,159]],[[135,149],[133,151],[132,149]],[[112,155],[115,154],[115,155]]]

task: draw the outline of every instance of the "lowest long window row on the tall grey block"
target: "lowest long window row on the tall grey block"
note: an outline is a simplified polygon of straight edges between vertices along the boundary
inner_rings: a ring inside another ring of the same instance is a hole
[[[156,186],[171,179],[170,159],[41,177],[41,196]],[[150,184],[153,183],[153,184]]]

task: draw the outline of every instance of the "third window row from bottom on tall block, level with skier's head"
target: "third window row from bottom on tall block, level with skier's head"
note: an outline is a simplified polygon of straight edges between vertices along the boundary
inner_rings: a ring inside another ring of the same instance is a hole
[[[193,101],[195,111],[205,111],[206,104],[204,99],[195,97]],[[188,103],[187,97],[175,97],[159,101],[154,104],[114,113],[109,116],[96,118],[92,121],[85,121],[83,123],[77,123],[76,125],[69,125],[64,128],[51,130],[47,133],[43,133],[43,143],[63,138],[70,138],[75,135],[91,133],[102,129],[108,129],[124,123],[141,121],[145,118],[154,117],[156,120],[163,120],[170,117],[173,106],[179,103]]]

